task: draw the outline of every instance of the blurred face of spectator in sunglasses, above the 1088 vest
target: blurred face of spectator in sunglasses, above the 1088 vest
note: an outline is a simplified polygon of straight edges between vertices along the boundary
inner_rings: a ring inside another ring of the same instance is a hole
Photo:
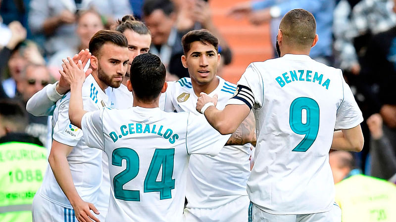
[[[28,66],[18,82],[18,91],[27,102],[35,93],[42,90],[49,83],[49,71],[45,66]]]

